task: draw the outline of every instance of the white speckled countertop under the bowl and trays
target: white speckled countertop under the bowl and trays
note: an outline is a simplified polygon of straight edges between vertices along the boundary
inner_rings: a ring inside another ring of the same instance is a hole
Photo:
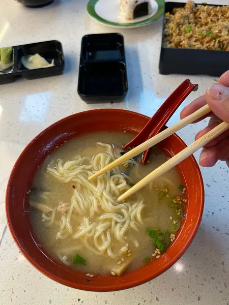
[[[139,287],[107,293],[65,287],[46,278],[28,263],[11,237],[5,217],[7,180],[18,155],[34,136],[54,121],[88,109],[122,108],[152,116],[186,78],[158,73],[160,19],[147,27],[118,29],[126,43],[129,80],[126,100],[93,105],[82,102],[77,94],[81,37],[116,31],[91,20],[86,6],[86,0],[55,0],[52,5],[36,10],[24,8],[13,0],[0,3],[1,47],[57,39],[62,42],[66,57],[62,76],[31,81],[19,79],[0,88],[0,304],[228,305],[229,173],[222,162],[213,168],[201,169],[206,190],[205,209],[191,246],[163,275]],[[214,81],[213,77],[188,77],[199,84],[199,90],[192,93],[183,106],[204,94]],[[179,119],[180,110],[170,124]],[[205,125],[206,121],[188,126],[179,134],[190,144],[194,134]]]

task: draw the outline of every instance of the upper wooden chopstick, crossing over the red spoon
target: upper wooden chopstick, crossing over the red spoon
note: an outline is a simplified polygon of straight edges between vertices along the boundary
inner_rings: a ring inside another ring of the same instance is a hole
[[[128,153],[126,153],[125,155],[121,156],[119,159],[111,162],[110,164],[108,164],[107,166],[105,166],[104,168],[99,170],[97,173],[95,173],[94,175],[90,176],[88,179],[89,180],[95,179],[98,176],[100,176],[100,175],[104,174],[105,172],[107,172],[108,170],[123,164],[124,162],[126,162],[126,161],[130,160],[131,158],[133,158],[133,157],[139,155],[140,153],[142,153],[142,151],[145,151],[146,149],[154,146],[155,144],[157,144],[160,141],[164,140],[168,136],[174,134],[178,130],[180,130],[180,129],[184,128],[185,126],[187,126],[188,124],[194,122],[198,118],[201,118],[202,116],[204,116],[205,114],[209,113],[210,111],[211,111],[211,109],[209,108],[208,105],[205,105],[204,107],[199,108],[198,110],[196,110],[192,114],[190,114],[190,115],[186,116],[185,118],[183,118],[182,120],[180,120],[178,123],[170,126],[169,128],[163,130],[162,132],[160,132],[156,136],[154,136],[151,139],[147,140],[146,142],[144,142],[144,143],[138,145],[137,147],[131,149],[130,151],[128,151]]]

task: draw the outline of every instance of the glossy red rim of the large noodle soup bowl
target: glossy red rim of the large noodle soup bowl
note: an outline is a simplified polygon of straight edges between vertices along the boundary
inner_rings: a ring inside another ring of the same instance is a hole
[[[201,193],[201,202],[199,202],[199,211],[198,211],[198,218],[197,221],[194,225],[194,229],[192,229],[192,232],[189,234],[187,240],[186,240],[186,245],[185,247],[182,248],[182,250],[180,250],[176,255],[174,255],[174,257],[172,259],[169,259],[169,263],[168,266],[164,266],[162,267],[160,270],[156,270],[154,275],[150,275],[148,274],[147,276],[145,276],[144,278],[140,278],[137,279],[135,281],[132,282],[128,282],[128,283],[120,283],[120,284],[116,284],[113,286],[93,286],[93,284],[91,284],[90,286],[87,285],[81,285],[81,284],[77,284],[76,282],[71,282],[69,280],[63,279],[62,277],[58,277],[53,275],[51,272],[49,272],[48,270],[46,270],[45,267],[42,267],[39,263],[36,262],[36,260],[33,258],[33,256],[26,252],[26,249],[24,248],[24,245],[22,245],[22,242],[19,240],[19,238],[17,237],[17,232],[15,232],[14,228],[13,228],[13,224],[11,221],[11,217],[10,217],[10,211],[9,211],[9,202],[10,202],[10,189],[11,189],[11,180],[12,180],[12,176],[14,174],[14,170],[15,168],[17,168],[18,164],[20,164],[21,162],[21,158],[23,157],[23,155],[26,153],[26,150],[28,148],[30,148],[30,146],[33,145],[33,143],[39,138],[41,137],[43,134],[45,134],[47,131],[49,131],[50,129],[52,129],[53,127],[56,127],[57,125],[63,123],[66,120],[69,120],[71,118],[76,118],[78,115],[85,115],[85,114],[89,114],[89,113],[93,113],[96,115],[96,113],[100,113],[100,112],[120,112],[123,114],[132,114],[138,117],[143,117],[146,119],[150,119],[150,117],[144,115],[144,114],[140,114],[134,111],[130,111],[130,110],[123,110],[123,109],[112,109],[112,108],[105,108],[105,109],[93,109],[93,110],[87,110],[87,111],[82,111],[82,112],[78,112],[78,113],[74,113],[72,115],[69,115],[67,117],[64,117],[58,121],[56,121],[55,123],[53,123],[52,125],[48,126],[46,129],[44,129],[42,132],[40,132],[34,139],[32,139],[26,146],[25,148],[22,150],[21,154],[19,155],[19,157],[17,158],[13,169],[11,171],[10,177],[9,177],[9,181],[8,181],[8,185],[7,185],[7,190],[6,190],[6,216],[7,216],[7,222],[8,222],[8,226],[10,229],[10,232],[13,236],[13,239],[16,243],[16,245],[18,246],[19,250],[21,251],[21,253],[24,255],[24,257],[40,272],[42,272],[45,276],[47,276],[48,278],[59,282],[60,284],[72,287],[72,288],[77,288],[80,290],[85,290],[85,291],[99,291],[99,292],[108,292],[108,291],[117,291],[117,290],[123,290],[123,289],[128,289],[128,288],[132,288],[141,284],[144,284],[156,277],[158,277],[159,275],[161,275],[164,271],[166,271],[167,269],[169,269],[171,266],[173,266],[176,261],[178,259],[181,258],[181,256],[185,253],[185,251],[188,249],[188,247],[190,246],[192,240],[194,239],[196,232],[198,230],[199,224],[201,223],[201,219],[202,219],[202,215],[203,215],[203,210],[204,210],[204,199],[205,199],[205,195],[204,195],[204,182],[203,182],[203,178],[202,178],[202,174],[201,171],[198,167],[198,164],[194,158],[193,155],[191,155],[189,158],[192,160],[193,165],[195,167],[196,170],[196,174],[198,175],[199,178],[199,191]],[[64,133],[64,131],[63,131]],[[176,137],[177,140],[179,140],[179,142],[186,147],[187,145],[184,143],[184,141],[177,135],[174,134],[174,136]],[[76,136],[77,137],[77,136]]]

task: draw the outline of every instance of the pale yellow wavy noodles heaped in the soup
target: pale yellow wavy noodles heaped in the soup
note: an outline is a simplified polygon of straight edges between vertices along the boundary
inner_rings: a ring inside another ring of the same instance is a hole
[[[96,181],[88,180],[90,175],[117,159],[111,145],[101,142],[98,142],[98,145],[106,147],[107,153],[100,153],[92,160],[79,155],[76,160],[65,163],[59,159],[56,168],[50,165],[47,168],[47,172],[63,183],[77,181],[80,184],[80,187],[74,190],[67,217],[62,216],[61,218],[61,231],[57,233],[57,237],[63,239],[65,236],[69,237],[70,234],[72,238],[82,241],[85,247],[94,254],[101,255],[105,251],[109,257],[116,258],[117,255],[112,252],[111,246],[113,239],[117,238],[120,241],[121,249],[125,243],[124,234],[136,230],[136,223],[142,224],[141,211],[145,205],[142,204],[144,200],[139,195],[137,198],[135,196],[134,201],[116,203],[116,199],[130,188],[127,180],[131,180],[130,177],[122,174],[118,167],[112,170],[113,175],[108,171]],[[132,160],[128,163],[138,166]],[[49,221],[48,226],[54,222],[55,212],[56,208],[52,211],[51,218],[42,214],[43,219]],[[83,217],[78,229],[71,225],[72,215]],[[95,216],[98,216],[96,221]],[[67,230],[69,234],[65,235],[63,230]],[[81,239],[82,237],[84,238]],[[99,240],[101,240],[101,244]],[[60,253],[58,256],[61,257]],[[61,260],[64,263],[68,262],[67,257],[66,259],[62,257]]]

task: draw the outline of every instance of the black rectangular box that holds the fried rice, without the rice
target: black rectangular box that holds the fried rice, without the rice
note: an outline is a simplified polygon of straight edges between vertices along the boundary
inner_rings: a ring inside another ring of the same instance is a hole
[[[185,3],[165,3],[164,15],[174,8],[184,7]],[[219,5],[215,5],[219,6]],[[164,20],[162,41],[164,32]],[[216,50],[165,48],[161,44],[159,62],[160,74],[206,74],[220,76],[229,70],[229,52]]]

